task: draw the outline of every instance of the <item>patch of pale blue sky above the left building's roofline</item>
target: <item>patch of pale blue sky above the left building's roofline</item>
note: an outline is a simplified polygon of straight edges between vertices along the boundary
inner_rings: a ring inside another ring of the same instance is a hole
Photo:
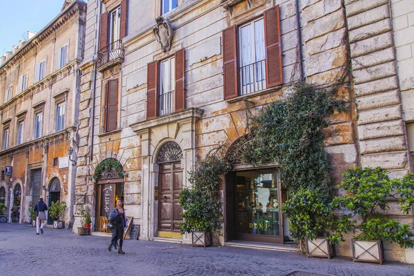
[[[86,1],[86,0],[84,0]],[[39,32],[63,7],[64,0],[0,0],[0,56],[18,45],[28,30]]]

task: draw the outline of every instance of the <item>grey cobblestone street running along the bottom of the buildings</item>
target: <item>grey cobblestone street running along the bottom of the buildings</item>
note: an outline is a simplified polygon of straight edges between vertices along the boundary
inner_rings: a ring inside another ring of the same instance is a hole
[[[126,255],[108,252],[107,237],[0,224],[0,275],[414,275],[414,266],[307,258],[298,253],[235,247],[193,248],[126,240]]]

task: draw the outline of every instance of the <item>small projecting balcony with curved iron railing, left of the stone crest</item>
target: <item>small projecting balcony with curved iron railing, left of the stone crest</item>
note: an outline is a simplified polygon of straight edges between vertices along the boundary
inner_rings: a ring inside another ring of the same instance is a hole
[[[125,49],[121,40],[114,41],[98,52],[97,68],[99,71],[124,62]]]

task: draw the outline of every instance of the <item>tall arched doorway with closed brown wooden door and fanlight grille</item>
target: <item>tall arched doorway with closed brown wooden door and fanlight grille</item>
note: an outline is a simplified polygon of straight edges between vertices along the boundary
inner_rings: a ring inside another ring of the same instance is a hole
[[[180,232],[179,215],[183,208],[178,203],[178,195],[183,188],[183,152],[174,141],[168,141],[161,147],[157,156],[158,177],[158,236],[163,232]],[[170,236],[172,237],[172,236]]]

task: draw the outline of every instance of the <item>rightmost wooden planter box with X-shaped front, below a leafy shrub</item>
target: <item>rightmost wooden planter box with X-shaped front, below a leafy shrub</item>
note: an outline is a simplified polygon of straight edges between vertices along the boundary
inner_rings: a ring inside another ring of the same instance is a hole
[[[354,262],[370,262],[382,264],[382,241],[352,240],[352,255]]]

